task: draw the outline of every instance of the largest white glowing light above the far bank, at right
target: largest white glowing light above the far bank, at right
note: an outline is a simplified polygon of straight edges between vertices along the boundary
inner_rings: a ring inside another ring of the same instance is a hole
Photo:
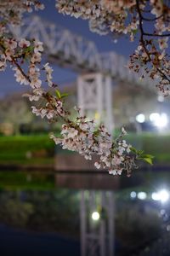
[[[150,121],[159,128],[167,126],[168,119],[166,113],[150,113]]]

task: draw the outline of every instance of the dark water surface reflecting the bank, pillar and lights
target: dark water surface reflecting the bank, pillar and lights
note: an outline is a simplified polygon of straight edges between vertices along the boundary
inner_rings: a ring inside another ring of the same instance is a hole
[[[145,184],[151,189],[158,186],[158,179],[161,183],[167,180],[169,174],[164,178],[153,176],[155,182],[152,175],[145,177]],[[144,177],[137,175],[127,183],[126,177],[122,181],[108,177],[0,172],[1,252],[6,253],[4,256],[10,250],[13,252],[10,255],[18,256],[23,252],[27,255],[26,251],[28,255],[36,252],[49,256],[54,253],[62,256],[152,255],[144,254],[144,248],[165,236],[165,230],[166,237],[169,234],[169,203],[163,209],[165,219],[160,214],[160,202],[150,201],[150,197],[144,201],[131,198],[132,191],[138,192],[141,186],[144,189]],[[135,183],[140,187],[132,188]],[[92,218],[96,212],[98,219]],[[23,247],[19,246],[20,239]],[[168,247],[167,251],[170,252]]]

